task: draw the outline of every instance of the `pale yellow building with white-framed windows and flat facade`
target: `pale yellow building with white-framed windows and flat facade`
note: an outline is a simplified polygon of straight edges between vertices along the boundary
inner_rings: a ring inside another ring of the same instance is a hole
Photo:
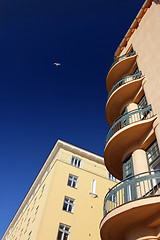
[[[115,181],[101,156],[58,140],[2,240],[100,239],[104,194]]]

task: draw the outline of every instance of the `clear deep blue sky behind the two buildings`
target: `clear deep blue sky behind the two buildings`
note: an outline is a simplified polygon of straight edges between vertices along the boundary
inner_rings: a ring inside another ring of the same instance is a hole
[[[0,238],[58,138],[103,155],[105,78],[143,2],[1,0]]]

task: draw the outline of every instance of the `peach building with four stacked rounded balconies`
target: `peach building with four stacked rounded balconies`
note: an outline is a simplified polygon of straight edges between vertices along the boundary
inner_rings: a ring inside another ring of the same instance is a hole
[[[159,39],[160,1],[146,0],[106,79],[104,161],[120,182],[104,200],[102,240],[160,239]]]

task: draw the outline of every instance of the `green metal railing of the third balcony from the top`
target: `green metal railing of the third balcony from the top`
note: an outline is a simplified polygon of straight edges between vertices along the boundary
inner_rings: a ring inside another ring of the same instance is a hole
[[[123,127],[131,123],[138,122],[151,117],[153,117],[153,111],[152,111],[151,105],[148,105],[147,107],[142,109],[130,111],[122,115],[112,124],[111,128],[108,130],[108,133],[106,136],[106,143],[113,136],[114,133],[116,133]]]

